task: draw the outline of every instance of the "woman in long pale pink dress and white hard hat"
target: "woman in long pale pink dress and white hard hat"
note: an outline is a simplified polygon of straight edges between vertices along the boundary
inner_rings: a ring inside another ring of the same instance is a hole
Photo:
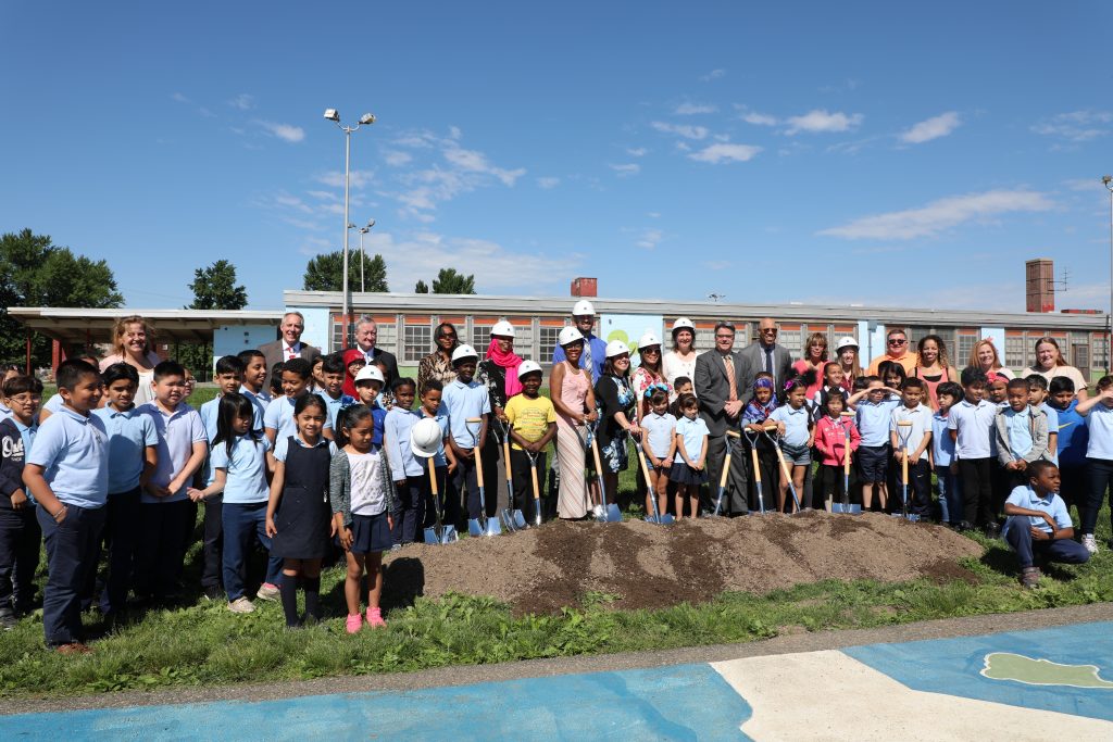
[[[549,375],[549,398],[556,409],[556,462],[561,472],[569,472],[560,482],[556,515],[574,521],[588,515],[587,483],[580,476],[587,454],[577,428],[594,423],[598,415],[591,375],[580,368],[583,335],[575,327],[565,327],[556,343],[564,359],[553,364]]]

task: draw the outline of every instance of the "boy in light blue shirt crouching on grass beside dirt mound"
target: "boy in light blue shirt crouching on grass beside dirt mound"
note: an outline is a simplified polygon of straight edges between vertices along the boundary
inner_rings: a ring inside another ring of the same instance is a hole
[[[1021,563],[1021,584],[1035,587],[1040,567],[1035,558],[1063,564],[1083,564],[1090,552],[1074,541],[1074,527],[1058,496],[1058,467],[1036,461],[1027,467],[1028,484],[1013,489],[1005,501],[1004,537]]]

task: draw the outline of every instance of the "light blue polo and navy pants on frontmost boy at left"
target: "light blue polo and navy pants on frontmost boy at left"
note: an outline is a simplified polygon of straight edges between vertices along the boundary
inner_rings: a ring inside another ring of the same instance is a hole
[[[108,432],[95,415],[63,405],[39,426],[27,463],[41,466],[43,478],[66,508],[58,523],[36,507],[47,546],[48,576],[42,596],[47,644],[60,646],[82,639],[80,593],[105,526],[108,498]]]

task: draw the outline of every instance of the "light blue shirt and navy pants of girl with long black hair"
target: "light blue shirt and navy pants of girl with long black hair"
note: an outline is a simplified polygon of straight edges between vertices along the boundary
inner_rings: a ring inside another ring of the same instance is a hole
[[[270,552],[270,536],[266,532],[267,501],[270,497],[266,475],[268,451],[270,442],[262,436],[256,438],[237,435],[233,441],[230,453],[224,441],[213,446],[213,468],[223,468],[228,473],[224,485],[221,509],[224,526],[221,573],[229,603],[244,597],[253,534],[268,554]],[[282,560],[269,554],[264,582],[277,585],[280,574]]]

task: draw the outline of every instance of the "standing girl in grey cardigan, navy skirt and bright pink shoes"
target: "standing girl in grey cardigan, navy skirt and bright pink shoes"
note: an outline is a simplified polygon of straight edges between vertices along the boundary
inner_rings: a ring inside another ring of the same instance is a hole
[[[339,415],[339,431],[328,467],[328,501],[341,546],[347,555],[344,597],[347,633],[363,625],[359,585],[367,571],[367,623],[385,626],[378,601],[383,594],[383,552],[391,547],[391,531],[402,508],[386,465],[386,456],[372,443],[375,419],[371,407],[355,405]]]

